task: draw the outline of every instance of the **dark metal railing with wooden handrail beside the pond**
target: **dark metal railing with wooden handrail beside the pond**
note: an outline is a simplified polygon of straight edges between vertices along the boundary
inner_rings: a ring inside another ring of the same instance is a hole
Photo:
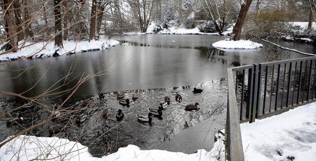
[[[316,99],[316,57],[228,68],[227,159],[243,161],[241,122],[283,113]]]

